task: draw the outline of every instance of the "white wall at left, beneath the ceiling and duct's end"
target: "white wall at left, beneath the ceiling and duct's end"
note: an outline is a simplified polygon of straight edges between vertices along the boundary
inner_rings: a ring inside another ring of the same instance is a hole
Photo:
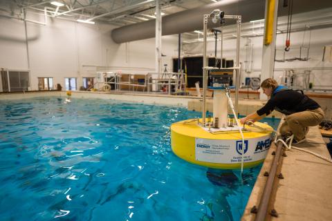
[[[28,19],[44,22],[43,16],[29,12]],[[77,77],[80,88],[82,77],[97,77],[97,71],[142,74],[155,70],[154,39],[116,44],[111,39],[115,27],[107,24],[50,18],[46,26],[27,22],[28,54],[24,21],[0,17],[0,24],[0,68],[30,70],[32,90],[38,89],[37,77],[53,77],[54,86],[63,88],[64,77]],[[163,64],[170,66],[177,37],[163,37],[162,44],[167,55]]]

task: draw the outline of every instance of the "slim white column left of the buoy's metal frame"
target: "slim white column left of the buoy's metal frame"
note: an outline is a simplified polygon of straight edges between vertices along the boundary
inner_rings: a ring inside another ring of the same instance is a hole
[[[156,73],[161,71],[161,12],[160,2],[156,0]]]

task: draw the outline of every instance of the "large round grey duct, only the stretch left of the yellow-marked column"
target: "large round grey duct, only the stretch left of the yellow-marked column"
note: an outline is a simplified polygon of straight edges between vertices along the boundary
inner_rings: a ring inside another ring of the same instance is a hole
[[[162,35],[174,35],[183,32],[191,32],[194,30],[203,29],[203,15],[210,14],[212,10],[219,8],[225,12],[225,15],[242,15],[243,19],[246,17],[244,14],[252,14],[248,12],[250,8],[257,8],[261,13],[255,13],[256,19],[264,17],[265,0],[225,0],[217,3],[210,3],[206,6],[177,12],[172,15],[163,17]],[[241,9],[242,8],[242,9]],[[240,10],[241,9],[241,10]],[[231,20],[230,20],[231,21]],[[234,21],[233,21],[234,22]],[[112,31],[112,39],[116,43],[124,43],[127,41],[136,41],[141,39],[149,39],[155,37],[156,20],[144,21],[135,23],[129,26],[116,28]],[[213,24],[217,26],[217,24]],[[209,28],[214,27],[209,23]]]

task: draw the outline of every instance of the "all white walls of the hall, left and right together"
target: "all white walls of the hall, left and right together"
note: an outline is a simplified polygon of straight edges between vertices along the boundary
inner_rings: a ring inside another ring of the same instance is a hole
[[[32,13],[28,13],[28,19],[44,22],[43,16]],[[132,74],[154,72],[154,38],[115,44],[111,39],[111,30],[115,28],[113,26],[48,18],[46,26],[27,23],[27,55],[24,22],[0,17],[0,24],[0,68],[30,70],[33,90],[37,90],[37,77],[53,77],[54,85],[61,84],[63,87],[64,77],[77,77],[77,88],[80,88],[82,77],[97,77],[98,71]],[[332,63],[322,61],[323,47],[332,45],[331,33],[332,28],[311,30],[309,60],[276,62],[275,78],[279,79],[282,76],[284,68],[311,68],[314,74],[311,82],[315,88],[331,86]],[[299,57],[299,46],[302,42],[308,45],[308,34],[308,31],[291,33],[291,50],[286,52],[286,59]],[[277,35],[277,59],[282,57],[280,52],[283,51],[285,38],[285,34]],[[162,39],[162,52],[167,55],[162,58],[162,63],[168,64],[168,70],[172,70],[172,57],[177,56],[178,37],[164,36]],[[242,68],[242,82],[245,77],[258,77],[261,73],[263,37],[252,37],[252,42],[252,72],[246,73]],[[246,38],[241,38],[242,67],[246,60],[245,44]],[[235,39],[225,40],[223,57],[235,59],[235,46]],[[220,41],[217,48],[219,56]],[[183,50],[192,54],[202,54],[202,43],[185,44]],[[214,41],[208,43],[208,55],[214,56]]]

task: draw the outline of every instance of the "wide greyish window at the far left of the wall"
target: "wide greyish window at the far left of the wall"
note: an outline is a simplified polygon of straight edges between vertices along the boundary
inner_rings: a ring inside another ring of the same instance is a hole
[[[3,92],[26,91],[30,86],[28,71],[1,70]]]

